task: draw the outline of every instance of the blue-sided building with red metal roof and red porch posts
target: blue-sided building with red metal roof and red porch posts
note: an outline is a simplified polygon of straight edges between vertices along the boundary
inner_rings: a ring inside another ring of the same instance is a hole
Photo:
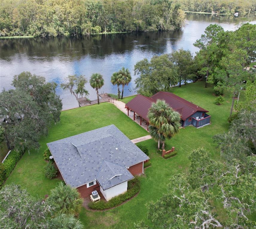
[[[183,127],[189,125],[201,127],[210,124],[211,116],[206,114],[206,112],[208,112],[207,110],[177,95],[174,95],[173,93],[162,91],[157,92],[155,95],[151,97],[137,95],[135,98],[133,98],[125,105],[128,110],[128,115],[129,111],[132,111],[134,112],[133,120],[135,120],[136,113],[140,116],[141,120],[145,120],[148,125],[148,109],[150,108],[152,103],[155,103],[156,100],[158,99],[165,100],[165,102],[168,103],[173,110],[176,110],[180,113],[182,120],[181,124]]]

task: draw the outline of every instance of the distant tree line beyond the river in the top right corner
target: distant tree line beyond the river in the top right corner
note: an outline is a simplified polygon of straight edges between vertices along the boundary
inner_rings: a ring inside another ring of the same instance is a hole
[[[206,13],[254,13],[255,0],[175,0],[182,5],[184,11]]]

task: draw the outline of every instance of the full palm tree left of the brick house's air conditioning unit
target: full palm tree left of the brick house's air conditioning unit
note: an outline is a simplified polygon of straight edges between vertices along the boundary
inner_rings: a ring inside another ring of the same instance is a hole
[[[48,200],[54,205],[56,214],[74,214],[76,216],[78,216],[83,203],[77,189],[71,188],[70,185],[65,185],[63,182],[51,190]]]

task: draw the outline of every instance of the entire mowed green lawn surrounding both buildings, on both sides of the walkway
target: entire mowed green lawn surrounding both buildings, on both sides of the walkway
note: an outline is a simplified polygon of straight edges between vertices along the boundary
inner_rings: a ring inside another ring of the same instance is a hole
[[[156,153],[157,144],[154,140],[141,142],[140,144],[149,147],[152,166],[145,169],[145,176],[140,177],[140,193],[127,203],[108,211],[83,209],[80,219],[85,228],[133,228],[134,222],[141,219],[147,221],[145,204],[150,200],[155,201],[166,191],[171,175],[188,171],[187,156],[193,149],[204,147],[210,151],[212,157],[219,158],[219,149],[213,143],[212,137],[214,134],[228,129],[227,118],[231,97],[226,93],[224,104],[215,105],[216,97],[212,88],[205,88],[204,85],[204,82],[197,82],[181,88],[175,87],[173,93],[208,109],[212,124],[199,129],[193,126],[180,129],[179,134],[166,142],[167,150],[174,146],[178,152],[175,157],[169,159],[163,159]],[[133,97],[125,98],[123,101],[127,103],[131,98]],[[240,95],[240,98],[243,100],[243,95]],[[49,129],[47,138],[42,138],[40,141],[42,148],[39,152],[32,151],[30,155],[26,152],[8,178],[7,183],[18,183],[27,188],[32,195],[43,197],[58,182],[57,179],[48,180],[44,177],[45,161],[42,152],[46,148],[45,144],[109,124],[115,124],[130,139],[147,135],[143,128],[120,112],[113,104],[101,103],[62,112],[60,123],[53,125]]]

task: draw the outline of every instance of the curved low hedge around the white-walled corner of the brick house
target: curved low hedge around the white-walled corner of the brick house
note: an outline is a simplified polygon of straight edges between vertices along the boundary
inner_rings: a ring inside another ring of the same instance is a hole
[[[109,208],[114,208],[126,200],[132,198],[140,191],[141,185],[138,177],[135,177],[132,180],[128,181],[127,192],[113,197],[108,202],[99,201],[99,202],[89,202],[88,207],[93,210],[104,210]]]

